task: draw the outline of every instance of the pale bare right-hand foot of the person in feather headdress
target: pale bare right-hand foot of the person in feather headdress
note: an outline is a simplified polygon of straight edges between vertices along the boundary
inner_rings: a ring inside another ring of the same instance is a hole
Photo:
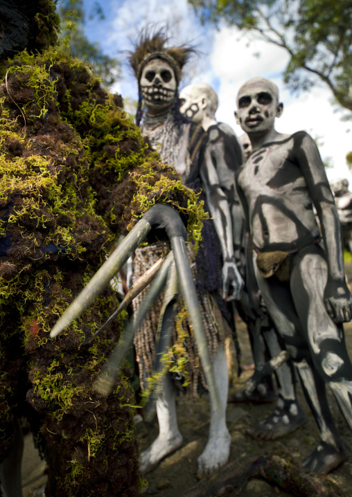
[[[223,435],[213,435],[209,438],[204,451],[198,458],[197,478],[216,471],[229,460],[231,435],[226,429]]]

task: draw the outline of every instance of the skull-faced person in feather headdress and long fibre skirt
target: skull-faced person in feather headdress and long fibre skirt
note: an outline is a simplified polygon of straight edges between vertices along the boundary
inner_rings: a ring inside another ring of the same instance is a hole
[[[213,343],[213,345],[209,343],[209,350],[215,356],[214,370],[219,386],[221,385],[222,403],[221,413],[215,413],[211,410],[209,441],[198,459],[198,473],[202,474],[225,464],[229,457],[230,437],[225,422],[227,367],[223,347],[224,330],[228,325],[222,317],[222,314],[227,315],[222,296],[224,298],[239,298],[243,280],[234,260],[229,206],[218,186],[211,181],[209,171],[206,168],[200,168],[200,158],[206,140],[204,130],[200,125],[191,123],[179,113],[177,91],[181,70],[191,53],[191,49],[186,46],[166,48],[166,42],[167,37],[164,33],[159,32],[150,37],[148,34],[145,35],[139,41],[134,53],[131,54],[130,62],[139,84],[137,123],[141,127],[142,134],[148,137],[152,147],[159,151],[161,159],[173,165],[175,170],[179,172],[184,184],[196,191],[200,191],[200,188],[205,190],[204,200],[208,202],[210,212],[215,213],[216,217],[215,229],[218,237],[216,237],[213,223],[206,220],[194,266],[194,278],[200,298],[203,323]],[[142,99],[144,100],[144,109],[141,107]],[[154,254],[162,250],[162,246],[139,249],[134,260],[134,271],[138,271],[138,264],[142,266],[146,262],[150,264],[152,257],[155,257]],[[189,255],[194,258],[191,246]],[[222,295],[219,290],[222,290]],[[136,307],[135,310],[137,310]],[[146,374],[148,367],[144,361],[147,351],[143,343],[146,343],[145,337],[149,336],[149,348],[153,350],[152,343],[156,332],[153,323],[148,326],[141,327],[139,336],[134,341],[140,365],[141,381],[143,381],[143,375]],[[192,356],[194,347],[189,337],[188,332],[186,339],[188,358],[190,363],[194,364]],[[199,368],[193,368],[191,371],[193,378],[191,386],[194,393],[199,388],[201,375]],[[225,383],[220,381],[222,378],[225,378]],[[166,381],[163,395],[157,401],[157,414],[160,428],[159,437],[141,455],[141,471],[143,472],[150,471],[159,460],[182,444],[182,435],[177,427],[175,413],[175,392],[170,378]]]

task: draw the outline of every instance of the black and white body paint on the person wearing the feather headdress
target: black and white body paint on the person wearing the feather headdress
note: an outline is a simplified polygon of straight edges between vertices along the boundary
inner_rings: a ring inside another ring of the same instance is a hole
[[[150,143],[159,150],[161,159],[173,165],[181,174],[182,181],[187,183],[190,175],[193,174],[188,156],[191,123],[184,120],[178,110],[177,116],[175,114],[177,83],[175,71],[167,60],[153,58],[146,63],[139,82],[146,105],[146,115],[141,120],[141,132],[144,136],[148,136]],[[202,168],[200,176],[202,188],[206,192],[209,205],[211,204],[211,214],[217,219],[215,228],[222,241],[224,257],[222,293],[226,298],[239,298],[243,289],[243,280],[234,264],[229,206],[223,192],[218,187],[218,179],[214,173],[213,168]],[[218,352],[215,354],[213,370],[216,386],[220,392],[221,408],[218,410],[211,406],[209,440],[198,458],[200,476],[218,469],[229,458],[231,436],[226,426],[228,372],[223,344],[219,345]],[[177,427],[175,401],[176,392],[167,379],[163,393],[157,400],[159,436],[141,454],[142,473],[151,471],[165,455],[175,451],[182,444],[182,435]]]

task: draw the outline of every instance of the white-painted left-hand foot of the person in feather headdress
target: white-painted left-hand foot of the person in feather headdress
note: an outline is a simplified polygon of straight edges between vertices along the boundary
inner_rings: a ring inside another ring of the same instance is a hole
[[[139,471],[142,475],[152,471],[166,455],[171,454],[182,446],[183,438],[181,433],[176,433],[171,438],[158,437],[152,442],[150,447],[143,451],[139,458]]]

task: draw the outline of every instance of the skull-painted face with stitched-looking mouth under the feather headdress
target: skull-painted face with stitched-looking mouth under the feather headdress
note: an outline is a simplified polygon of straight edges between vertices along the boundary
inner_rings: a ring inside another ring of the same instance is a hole
[[[166,60],[150,60],[143,68],[139,84],[148,111],[166,110],[173,104],[177,82],[173,68]]]

